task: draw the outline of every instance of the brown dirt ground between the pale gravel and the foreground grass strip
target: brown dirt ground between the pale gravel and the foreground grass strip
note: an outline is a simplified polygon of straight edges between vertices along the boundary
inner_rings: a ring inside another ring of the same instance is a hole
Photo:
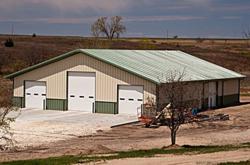
[[[250,142],[250,97],[242,97],[241,105],[205,113],[226,113],[230,115],[230,120],[184,125],[178,132],[177,143],[179,145],[223,145]],[[112,128],[109,131],[99,130],[96,134],[89,136],[78,136],[46,145],[27,147],[15,152],[0,152],[0,161],[151,149],[169,144],[169,130],[166,127],[144,128],[140,124],[133,124]]]

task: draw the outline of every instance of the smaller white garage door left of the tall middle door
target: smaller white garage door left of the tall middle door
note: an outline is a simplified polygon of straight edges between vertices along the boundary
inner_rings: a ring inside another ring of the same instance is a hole
[[[46,83],[39,81],[25,81],[25,107],[45,109]]]

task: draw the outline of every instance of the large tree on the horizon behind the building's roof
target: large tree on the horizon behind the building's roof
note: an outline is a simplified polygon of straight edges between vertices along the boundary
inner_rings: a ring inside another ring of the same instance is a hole
[[[91,25],[91,33],[94,37],[100,35],[106,36],[112,40],[114,37],[119,38],[120,34],[126,31],[126,27],[122,24],[121,16],[100,17]]]

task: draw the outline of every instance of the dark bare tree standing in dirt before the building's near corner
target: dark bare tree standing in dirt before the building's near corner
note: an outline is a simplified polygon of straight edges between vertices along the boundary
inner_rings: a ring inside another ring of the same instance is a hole
[[[170,72],[167,76],[167,83],[160,85],[161,96],[167,102],[164,107],[164,124],[170,129],[171,144],[176,144],[176,134],[180,126],[188,123],[192,116],[192,108],[197,107],[198,100],[195,100],[196,91],[188,90],[189,84],[183,81],[185,72]],[[197,91],[197,94],[199,92]]]

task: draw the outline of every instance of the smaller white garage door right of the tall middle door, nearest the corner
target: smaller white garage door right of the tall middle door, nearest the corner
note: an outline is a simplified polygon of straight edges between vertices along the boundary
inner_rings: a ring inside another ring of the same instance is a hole
[[[119,86],[119,113],[140,115],[143,104],[143,86]]]

